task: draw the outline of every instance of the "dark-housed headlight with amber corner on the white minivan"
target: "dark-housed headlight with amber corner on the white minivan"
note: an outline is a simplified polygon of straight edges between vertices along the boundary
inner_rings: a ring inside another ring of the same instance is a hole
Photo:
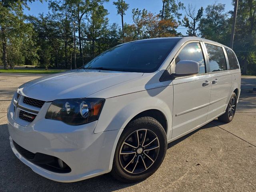
[[[70,125],[86,124],[98,120],[104,102],[105,99],[99,98],[54,100],[45,118]]]

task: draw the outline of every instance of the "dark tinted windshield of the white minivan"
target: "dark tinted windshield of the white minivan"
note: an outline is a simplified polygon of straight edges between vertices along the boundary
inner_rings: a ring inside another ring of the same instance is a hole
[[[85,69],[151,73],[160,67],[180,38],[163,38],[121,44],[103,52]]]

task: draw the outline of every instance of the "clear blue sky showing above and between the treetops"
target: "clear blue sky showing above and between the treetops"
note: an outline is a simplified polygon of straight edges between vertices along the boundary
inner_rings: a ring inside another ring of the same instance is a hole
[[[113,1],[109,0],[109,2],[104,3],[104,7],[108,10],[108,18],[109,23],[117,23],[122,26],[121,16],[117,15],[116,6],[113,5]],[[192,4],[196,6],[196,10],[198,10],[201,6],[206,8],[209,4],[223,3],[226,4],[226,12],[233,10],[234,6],[232,6],[232,0],[180,0],[184,3],[185,6],[188,4]],[[132,24],[132,9],[139,8],[140,10],[146,9],[148,12],[158,14],[160,10],[162,10],[162,0],[125,0],[126,3],[129,4],[129,9],[126,11],[126,15],[124,16],[124,22],[128,24]],[[40,1],[35,1],[28,4],[30,10],[24,10],[25,14],[30,14],[37,16],[39,13],[48,13],[48,2],[41,3]],[[185,10],[181,11],[182,17],[186,14]],[[178,32],[181,32],[183,35],[186,35],[186,28],[183,26],[178,27]]]

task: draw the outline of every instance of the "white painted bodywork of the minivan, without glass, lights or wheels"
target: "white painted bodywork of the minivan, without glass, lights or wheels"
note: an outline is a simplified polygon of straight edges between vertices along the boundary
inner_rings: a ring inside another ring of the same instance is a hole
[[[240,69],[159,81],[170,62],[171,68],[175,69],[173,58],[189,42],[216,44],[196,37],[181,38],[160,68],[153,73],[72,70],[20,86],[17,90],[21,94],[20,100],[26,96],[46,103],[34,121],[28,123],[14,118],[12,100],[7,117],[14,154],[34,172],[46,178],[74,182],[111,171],[119,137],[128,122],[140,112],[156,109],[164,114],[168,142],[222,115],[236,89],[239,98]],[[216,78],[218,83],[212,84]],[[210,84],[202,86],[206,80]],[[46,119],[51,102],[66,98],[105,98],[106,101],[99,119],[88,124],[71,126]],[[33,164],[19,154],[13,140],[32,153],[40,152],[62,159],[70,166],[71,172],[55,173]]]

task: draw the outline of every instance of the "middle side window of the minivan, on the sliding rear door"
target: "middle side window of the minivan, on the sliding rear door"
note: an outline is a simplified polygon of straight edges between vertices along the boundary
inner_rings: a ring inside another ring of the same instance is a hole
[[[210,72],[227,70],[226,58],[222,47],[207,43],[205,46],[210,62]]]

